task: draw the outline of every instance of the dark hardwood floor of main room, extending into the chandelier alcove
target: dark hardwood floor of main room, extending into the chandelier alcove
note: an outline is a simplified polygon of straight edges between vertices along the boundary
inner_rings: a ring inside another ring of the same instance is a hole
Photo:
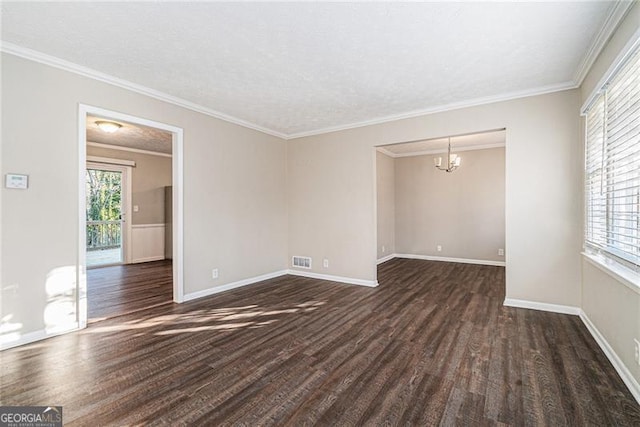
[[[1,353],[3,405],[66,425],[639,425],[578,317],[503,307],[501,267],[283,276]]]

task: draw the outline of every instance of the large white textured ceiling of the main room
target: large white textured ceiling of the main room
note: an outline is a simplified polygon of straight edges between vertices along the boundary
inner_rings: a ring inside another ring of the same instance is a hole
[[[624,4],[3,1],[0,7],[7,52],[50,55],[205,113],[296,137],[575,87]]]

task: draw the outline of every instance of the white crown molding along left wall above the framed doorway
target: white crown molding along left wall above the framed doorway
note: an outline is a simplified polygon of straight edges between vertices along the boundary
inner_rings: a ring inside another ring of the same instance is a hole
[[[114,77],[101,71],[94,70],[93,68],[78,65],[73,62],[65,61],[64,59],[57,58],[55,56],[47,55],[42,52],[38,52],[33,49],[18,46],[16,44],[0,41],[0,51],[8,53],[10,55],[18,56],[20,58],[28,59],[40,64],[55,67],[64,71],[69,71],[74,74],[79,74],[84,77],[89,77],[94,80],[98,80],[103,83],[107,83],[113,86],[117,86],[123,89],[130,90],[132,92],[139,93],[141,95],[148,96],[150,98],[158,99],[160,101],[167,102],[169,104],[177,105],[178,107],[186,108],[197,113],[205,114],[207,116],[215,117],[216,119],[224,120],[225,122],[233,123],[248,129],[257,130],[262,133],[266,133],[271,136],[275,136],[281,139],[288,139],[286,134],[268,129],[263,126],[256,125],[237,117],[230,116],[228,114],[221,113],[219,111],[212,110],[202,105],[198,105],[194,102],[187,101],[186,99],[178,98],[177,96],[169,95],[164,92],[160,92],[155,89],[151,89],[146,86],[139,85],[137,83],[130,82],[128,80]]]

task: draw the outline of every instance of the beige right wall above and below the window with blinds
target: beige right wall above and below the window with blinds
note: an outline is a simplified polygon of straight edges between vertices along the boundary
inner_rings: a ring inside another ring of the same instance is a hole
[[[582,101],[589,97],[625,45],[634,35],[637,37],[638,31],[640,5],[636,3],[587,74],[581,87]],[[582,224],[582,215],[578,218]],[[635,379],[637,396],[640,396],[640,369],[634,361],[633,339],[640,340],[639,292],[632,291],[589,262],[582,263],[582,310]]]

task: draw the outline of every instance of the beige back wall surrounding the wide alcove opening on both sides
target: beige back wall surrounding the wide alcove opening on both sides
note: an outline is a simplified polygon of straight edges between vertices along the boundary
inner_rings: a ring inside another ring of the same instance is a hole
[[[373,147],[507,129],[507,297],[580,304],[582,192],[577,90],[290,140],[289,255],[317,273],[376,278]],[[319,266],[319,267],[318,267]]]

